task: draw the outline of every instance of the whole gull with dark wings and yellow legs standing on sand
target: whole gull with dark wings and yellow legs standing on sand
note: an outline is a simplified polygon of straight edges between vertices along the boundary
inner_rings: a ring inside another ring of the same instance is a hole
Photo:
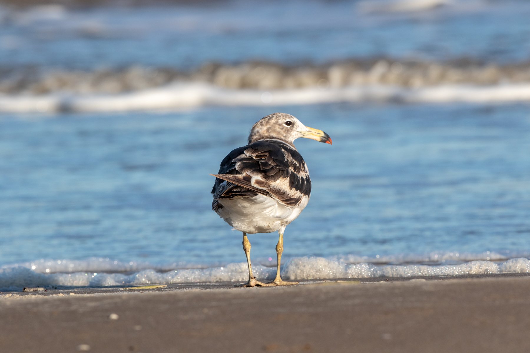
[[[297,284],[280,277],[284,230],[307,206],[311,179],[304,159],[295,148],[299,137],[331,144],[321,130],[308,128],[293,115],[273,113],[252,126],[249,144],[228,153],[216,177],[212,209],[234,229],[243,232],[243,250],[249,264],[245,287]],[[259,282],[252,274],[250,241],[246,234],[278,231],[276,278]]]

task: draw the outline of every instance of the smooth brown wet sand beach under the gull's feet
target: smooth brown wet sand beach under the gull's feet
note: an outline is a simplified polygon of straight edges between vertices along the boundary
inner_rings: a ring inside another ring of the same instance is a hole
[[[530,351],[528,275],[0,295],[0,352]]]

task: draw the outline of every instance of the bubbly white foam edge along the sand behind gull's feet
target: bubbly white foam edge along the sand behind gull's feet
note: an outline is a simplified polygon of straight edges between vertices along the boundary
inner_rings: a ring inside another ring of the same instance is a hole
[[[526,257],[510,258],[484,252],[431,254],[435,265],[426,265],[429,255],[375,257],[376,264],[368,258],[343,256],[335,258],[293,258],[282,268],[285,279],[337,279],[369,277],[462,276],[474,274],[530,273],[530,260]],[[435,256],[436,255],[436,256]],[[465,258],[478,258],[465,261]],[[484,260],[502,259],[504,262]],[[376,261],[406,259],[403,264],[379,264]],[[454,263],[457,260],[465,262]],[[416,263],[412,263],[416,261]],[[449,264],[448,264],[449,263]],[[171,269],[169,269],[171,268]],[[262,280],[275,276],[276,268],[253,263],[254,274]],[[144,263],[120,263],[109,259],[92,258],[86,261],[39,260],[0,268],[0,291],[19,291],[23,287],[108,287],[139,284],[171,284],[199,282],[244,282],[248,279],[246,263],[210,266],[192,264],[166,264],[154,266]]]

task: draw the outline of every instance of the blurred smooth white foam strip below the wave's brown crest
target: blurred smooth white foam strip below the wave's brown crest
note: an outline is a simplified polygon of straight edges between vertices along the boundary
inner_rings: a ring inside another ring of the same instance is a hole
[[[54,113],[178,110],[204,105],[263,106],[339,102],[508,103],[530,101],[530,84],[443,85],[422,88],[349,86],[321,89],[233,90],[209,84],[173,84],[116,95],[0,95],[0,112]]]

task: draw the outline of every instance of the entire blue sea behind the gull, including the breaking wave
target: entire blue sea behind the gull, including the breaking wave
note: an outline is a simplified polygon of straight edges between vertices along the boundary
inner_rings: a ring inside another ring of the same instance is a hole
[[[85,5],[0,7],[0,288],[244,277],[209,173],[277,111],[333,139],[296,141],[313,192],[287,259],[530,256],[527,2]],[[266,274],[277,234],[250,240]]]

